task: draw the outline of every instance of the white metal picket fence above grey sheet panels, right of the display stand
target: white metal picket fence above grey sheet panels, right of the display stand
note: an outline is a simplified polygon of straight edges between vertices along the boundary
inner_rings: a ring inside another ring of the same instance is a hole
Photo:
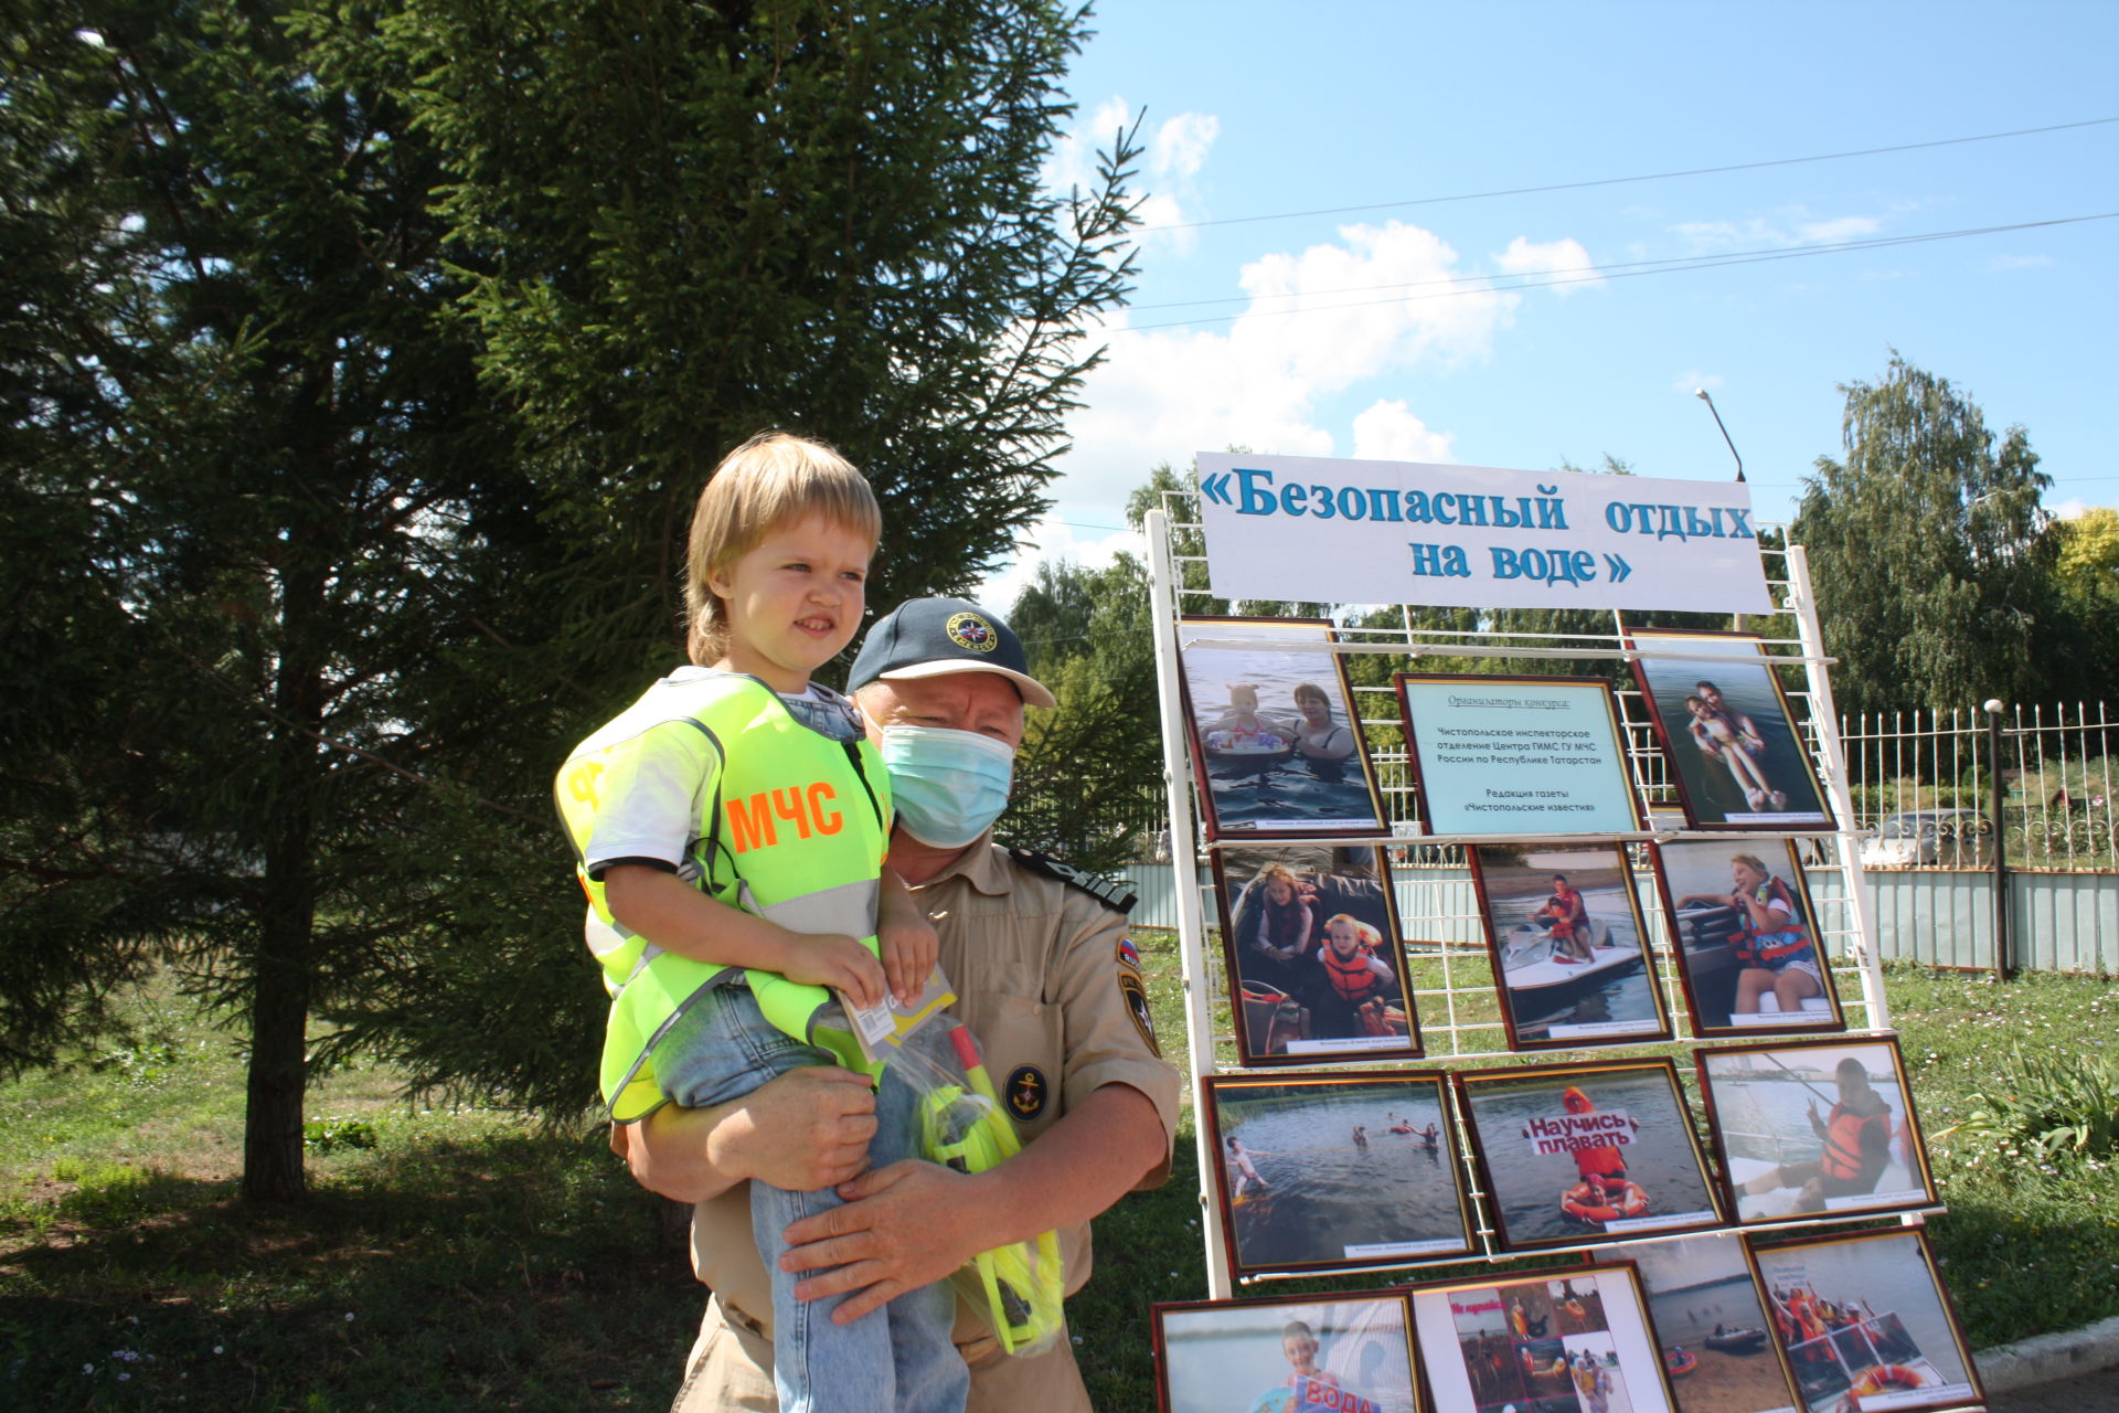
[[[2119,869],[2102,701],[1841,720],[1869,869]]]

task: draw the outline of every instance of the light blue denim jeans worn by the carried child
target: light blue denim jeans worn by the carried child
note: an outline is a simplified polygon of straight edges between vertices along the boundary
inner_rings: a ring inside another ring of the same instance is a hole
[[[788,1036],[759,1010],[750,987],[735,983],[708,991],[655,1047],[655,1076],[663,1093],[687,1108],[740,1099],[759,1085],[801,1066],[833,1063],[831,1055]],[[913,1157],[915,1095],[884,1070],[875,1095],[875,1138],[869,1163],[882,1167]],[[801,1275],[780,1269],[790,1222],[839,1205],[831,1188],[788,1193],[750,1184],[750,1237],[773,1282],[773,1385],[780,1413],[949,1413],[964,1407],[971,1371],[949,1341],[956,1294],[947,1282],[907,1290],[852,1324],[833,1324],[837,1305],[797,1301]]]

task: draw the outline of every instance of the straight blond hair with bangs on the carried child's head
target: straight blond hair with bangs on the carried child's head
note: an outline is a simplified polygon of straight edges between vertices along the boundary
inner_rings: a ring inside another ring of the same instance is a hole
[[[684,650],[710,667],[729,652],[729,610],[708,580],[780,525],[812,515],[862,534],[884,534],[869,479],[833,447],[793,432],[759,432],[720,458],[699,491],[684,547]]]

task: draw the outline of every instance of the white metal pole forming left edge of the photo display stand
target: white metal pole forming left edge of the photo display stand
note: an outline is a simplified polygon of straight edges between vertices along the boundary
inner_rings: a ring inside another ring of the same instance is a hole
[[[1178,578],[1170,555],[1170,513],[1148,511],[1148,606],[1155,619],[1155,697],[1163,714],[1163,784],[1170,792],[1170,881],[1178,900],[1178,960],[1185,968],[1185,1049],[1191,1055],[1191,1093],[1214,1074],[1214,1017],[1208,1008],[1206,919],[1199,911],[1199,841],[1193,833],[1191,756],[1185,750],[1185,697],[1178,691]],[[1206,1114],[1193,1112],[1193,1148],[1199,1155],[1199,1235],[1206,1241],[1206,1294],[1231,1294],[1229,1256],[1214,1201],[1214,1140]]]

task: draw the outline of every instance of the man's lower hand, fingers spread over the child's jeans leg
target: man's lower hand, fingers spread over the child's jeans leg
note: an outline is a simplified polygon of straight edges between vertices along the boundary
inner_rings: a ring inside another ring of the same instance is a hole
[[[795,1286],[816,1301],[848,1294],[831,1311],[848,1324],[907,1290],[947,1277],[1000,1239],[985,1239],[981,1178],[934,1163],[905,1161],[839,1184],[843,1208],[805,1216],[786,1229],[782,1271],[824,1271]],[[826,1269],[831,1267],[831,1269]]]

